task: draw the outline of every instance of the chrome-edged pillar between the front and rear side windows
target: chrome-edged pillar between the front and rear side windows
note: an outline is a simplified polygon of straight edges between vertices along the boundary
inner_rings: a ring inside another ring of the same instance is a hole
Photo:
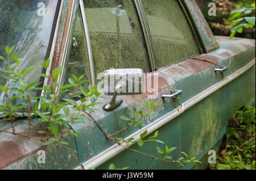
[[[148,26],[146,14],[144,14],[144,9],[141,0],[134,0],[136,9],[139,14],[139,19],[141,20],[141,26],[144,34],[144,38],[147,44],[148,56],[150,58],[150,64],[152,71],[156,70],[156,59],[155,59],[155,51],[153,48],[153,41],[150,33],[150,28]]]

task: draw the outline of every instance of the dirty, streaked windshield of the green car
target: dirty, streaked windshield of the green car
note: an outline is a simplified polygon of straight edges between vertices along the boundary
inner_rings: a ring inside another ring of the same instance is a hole
[[[0,0],[0,56],[7,58],[5,47],[15,46],[12,53],[21,53],[18,56],[23,60],[20,64],[21,70],[38,65],[38,62],[48,58],[47,49],[57,2],[57,0]],[[0,68],[6,66],[4,61],[0,61]],[[35,76],[39,72],[42,72],[40,66],[27,74],[26,81],[28,83],[39,81],[40,77]],[[0,77],[0,83],[3,81]],[[9,92],[9,95],[13,96],[14,92]],[[36,92],[32,92],[32,95],[36,95]],[[0,100],[3,100],[1,91]]]

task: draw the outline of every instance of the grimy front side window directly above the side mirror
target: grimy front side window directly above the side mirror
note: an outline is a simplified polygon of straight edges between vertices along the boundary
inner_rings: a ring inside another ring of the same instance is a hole
[[[151,71],[141,23],[131,0],[84,0],[94,71],[140,68]]]

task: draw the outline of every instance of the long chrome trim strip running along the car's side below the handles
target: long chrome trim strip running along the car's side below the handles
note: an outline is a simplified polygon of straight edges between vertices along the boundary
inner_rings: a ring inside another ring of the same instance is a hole
[[[233,81],[243,73],[245,73],[247,70],[249,70],[251,67],[255,65],[255,58],[249,62],[249,64],[243,66],[243,68],[237,70],[235,73],[229,75],[228,77],[222,79],[222,81],[217,82],[213,86],[209,87],[208,89],[204,90],[203,92],[200,92],[196,96],[193,96],[193,98],[187,100],[183,104],[181,104],[179,107],[175,108],[175,110],[167,113],[166,115],[160,117],[159,119],[155,120],[154,122],[146,125],[146,127],[143,127],[139,131],[131,134],[130,136],[126,137],[125,140],[129,140],[129,138],[135,138],[134,141],[138,140],[140,138],[141,133],[146,131],[147,129],[147,134],[155,132],[157,129],[162,127],[164,124],[167,124],[171,120],[175,119],[175,117],[181,115],[184,111],[188,110],[200,100],[203,100],[204,98],[207,98],[210,94],[213,94],[213,92],[217,91],[218,89],[221,89],[221,87],[227,85],[229,82]],[[129,145],[131,146],[131,144]],[[115,155],[121,153],[124,151],[125,148],[123,146],[115,144],[111,146],[110,148],[102,151],[101,153],[97,154],[93,158],[89,159],[88,161],[82,163],[82,166],[84,166],[84,169],[89,169],[90,167],[97,167],[102,165],[103,163],[107,162],[109,159],[113,158]],[[82,169],[81,166],[76,167],[77,169]]]

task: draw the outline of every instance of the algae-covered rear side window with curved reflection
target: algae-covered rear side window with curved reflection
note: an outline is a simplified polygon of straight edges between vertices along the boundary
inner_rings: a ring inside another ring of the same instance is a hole
[[[156,68],[200,53],[187,17],[176,0],[142,0],[152,36]]]

